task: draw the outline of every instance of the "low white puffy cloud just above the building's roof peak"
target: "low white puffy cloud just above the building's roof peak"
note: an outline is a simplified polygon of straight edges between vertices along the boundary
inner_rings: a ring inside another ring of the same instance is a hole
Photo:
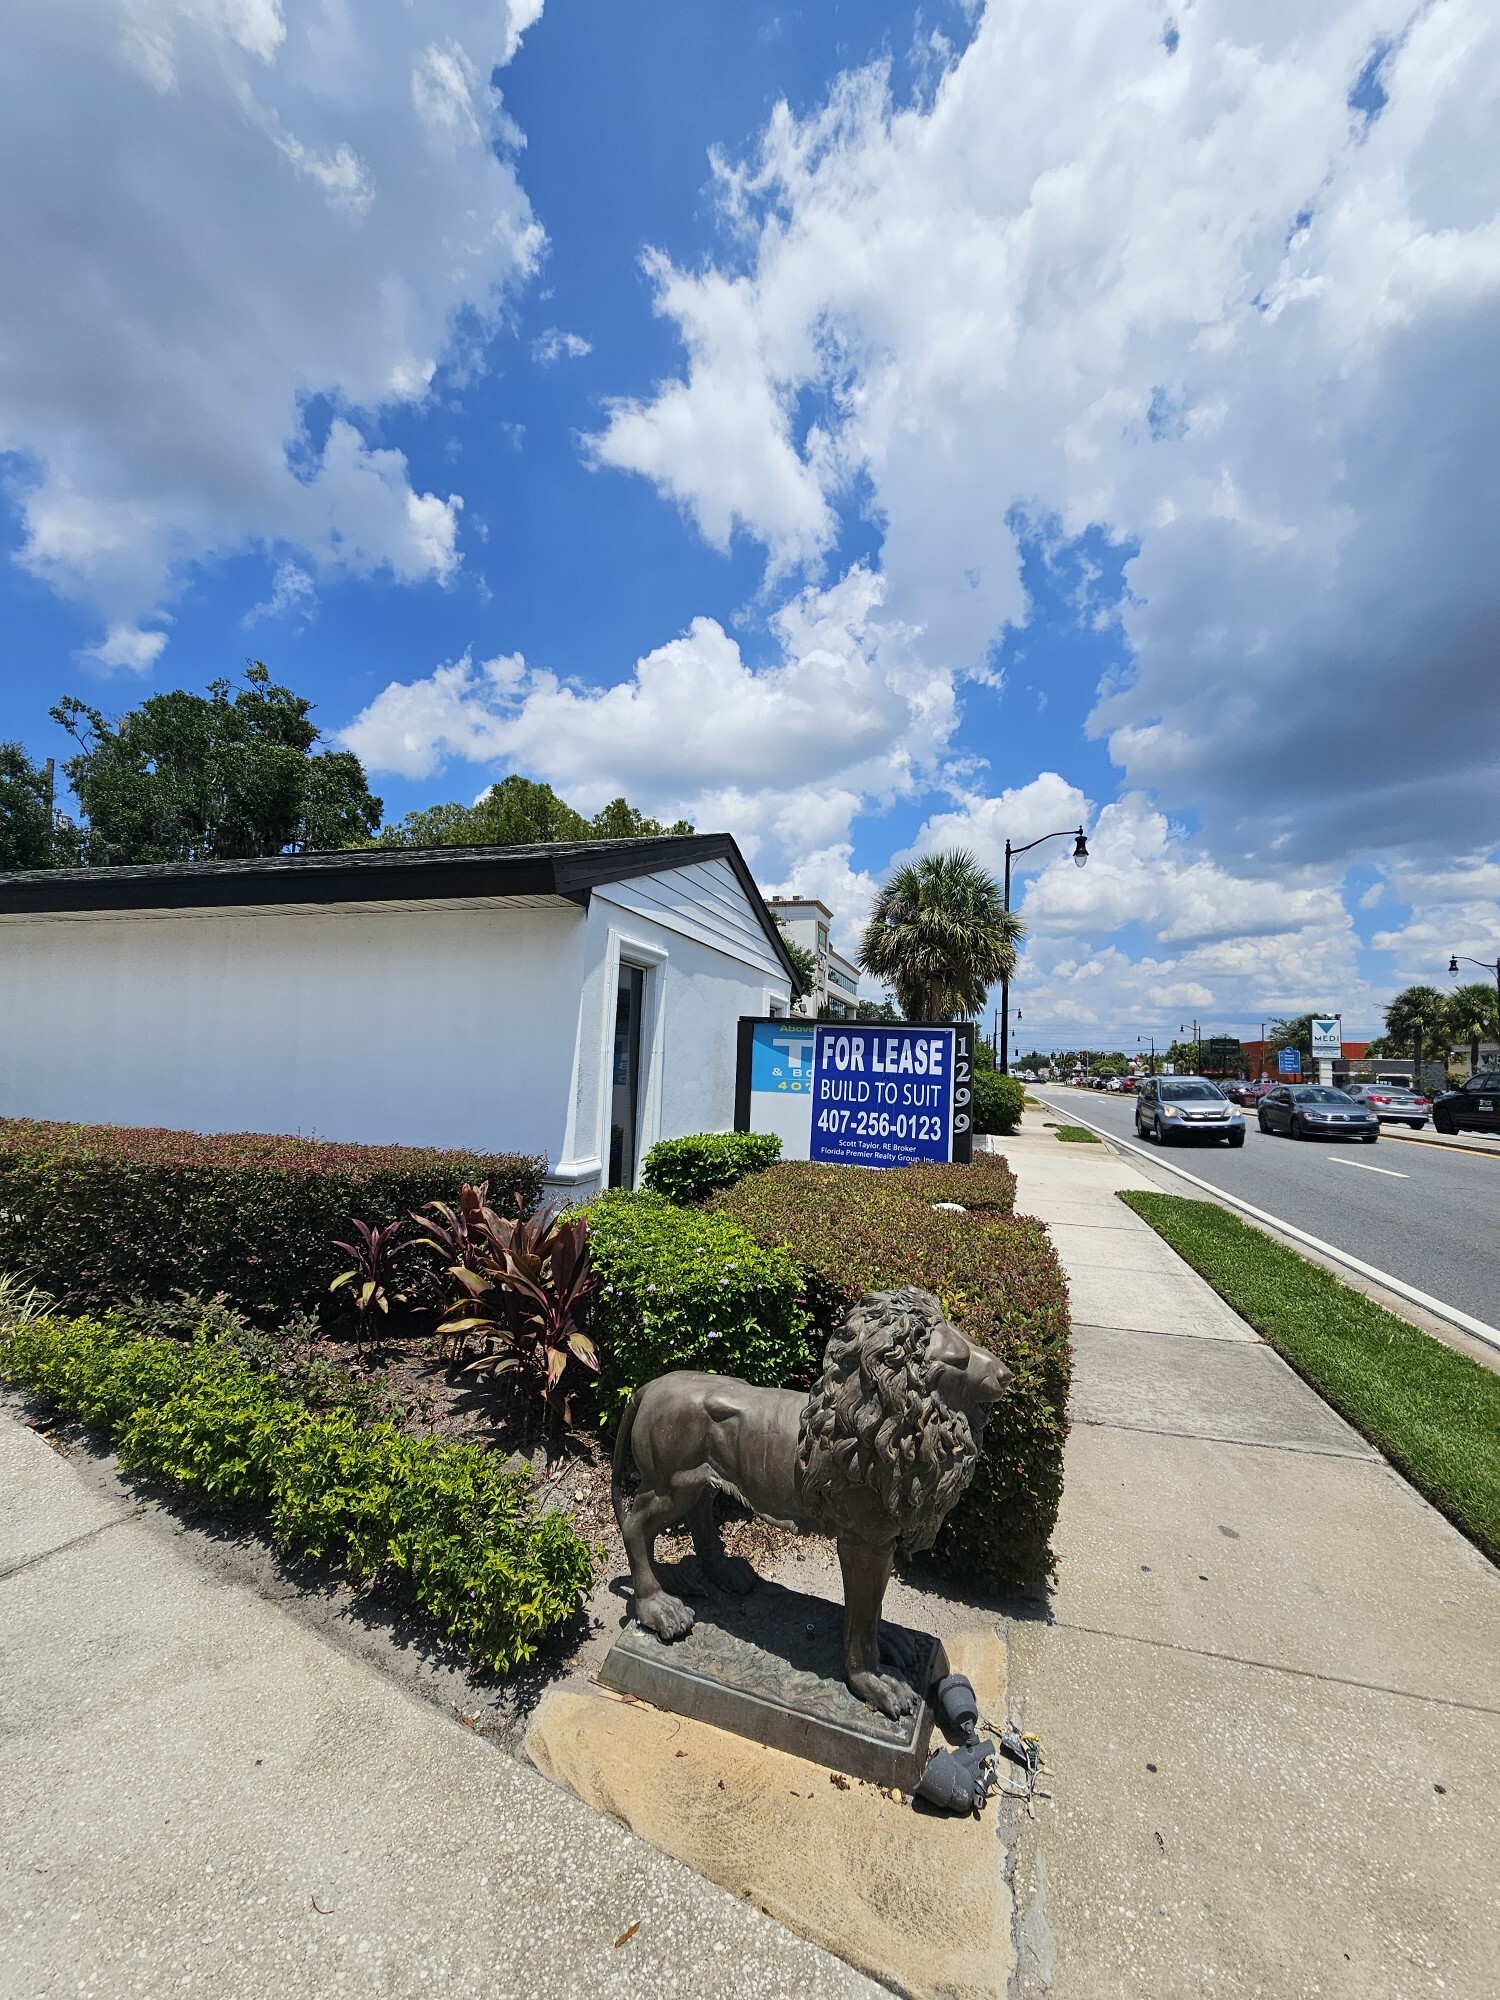
[[[342,740],[408,778],[464,758],[546,778],[586,808],[624,792],[728,828],[780,880],[820,850],[846,860],[856,814],[930,784],[958,710],[868,568],[802,590],[772,632],[780,658],[752,666],[714,618],[694,618],[608,688],[464,658],[392,682]]]

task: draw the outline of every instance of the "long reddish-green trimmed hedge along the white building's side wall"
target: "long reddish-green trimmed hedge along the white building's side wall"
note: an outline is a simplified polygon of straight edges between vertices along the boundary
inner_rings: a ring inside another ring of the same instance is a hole
[[[224,1292],[284,1318],[348,1262],[332,1240],[350,1216],[394,1222],[464,1180],[534,1208],[542,1172],[516,1154],[0,1118],[0,1270],[78,1308]]]

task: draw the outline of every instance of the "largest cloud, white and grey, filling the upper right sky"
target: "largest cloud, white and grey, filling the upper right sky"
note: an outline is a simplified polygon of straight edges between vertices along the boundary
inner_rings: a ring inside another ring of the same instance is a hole
[[[1494,840],[1498,116],[1484,0],[990,6],[930,102],[864,70],[718,164],[736,248],[652,258],[684,368],[594,454],[772,568],[866,494],[942,672],[1026,524],[1102,528],[1130,786],[1262,868]]]

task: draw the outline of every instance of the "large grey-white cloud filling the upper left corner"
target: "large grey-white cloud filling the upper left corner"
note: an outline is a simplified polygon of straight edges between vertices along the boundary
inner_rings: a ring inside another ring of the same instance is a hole
[[[20,562],[102,612],[102,664],[150,666],[184,568],[236,548],[454,572],[462,500],[416,490],[368,418],[536,264],[488,76],[538,12],[60,0],[10,24],[0,450]]]

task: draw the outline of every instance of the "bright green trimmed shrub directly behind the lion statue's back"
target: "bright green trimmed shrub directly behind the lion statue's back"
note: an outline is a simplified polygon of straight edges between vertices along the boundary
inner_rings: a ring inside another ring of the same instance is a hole
[[[766,1386],[812,1380],[822,1342],[814,1350],[802,1278],[784,1250],[764,1248],[728,1216],[622,1192],[590,1204],[588,1240],[600,1280],[590,1326],[604,1422],[668,1368]]]

